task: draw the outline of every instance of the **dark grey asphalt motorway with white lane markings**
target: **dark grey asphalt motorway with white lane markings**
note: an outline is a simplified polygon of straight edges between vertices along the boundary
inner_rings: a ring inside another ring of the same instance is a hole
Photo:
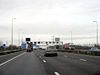
[[[44,50],[0,56],[0,75],[100,75],[100,56],[58,52],[44,57]]]

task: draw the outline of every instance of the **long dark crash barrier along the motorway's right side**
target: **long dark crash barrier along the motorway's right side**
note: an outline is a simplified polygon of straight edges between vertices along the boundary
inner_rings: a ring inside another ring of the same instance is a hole
[[[59,52],[68,52],[68,53],[76,53],[76,54],[85,54],[85,55],[93,55],[100,56],[100,51],[88,51],[88,50],[58,50]]]

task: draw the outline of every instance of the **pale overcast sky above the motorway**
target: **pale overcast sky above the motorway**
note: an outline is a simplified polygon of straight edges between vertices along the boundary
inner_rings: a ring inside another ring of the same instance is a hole
[[[100,33],[100,0],[0,0],[1,41],[11,42],[12,19],[15,44],[19,35],[20,40],[52,40],[55,36],[70,42],[71,32],[74,43],[93,44],[93,21],[98,22]]]

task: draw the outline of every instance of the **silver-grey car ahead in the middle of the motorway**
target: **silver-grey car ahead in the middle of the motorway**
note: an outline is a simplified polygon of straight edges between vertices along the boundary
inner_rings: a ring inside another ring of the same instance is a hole
[[[45,50],[44,56],[58,56],[57,49],[55,46],[48,46]]]

